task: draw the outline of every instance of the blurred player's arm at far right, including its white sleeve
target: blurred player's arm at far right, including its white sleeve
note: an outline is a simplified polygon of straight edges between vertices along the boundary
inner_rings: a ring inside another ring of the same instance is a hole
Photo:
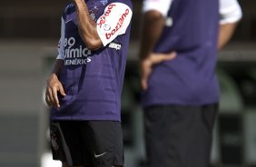
[[[218,50],[230,41],[237,23],[241,20],[241,6],[237,0],[220,0],[220,15]]]

